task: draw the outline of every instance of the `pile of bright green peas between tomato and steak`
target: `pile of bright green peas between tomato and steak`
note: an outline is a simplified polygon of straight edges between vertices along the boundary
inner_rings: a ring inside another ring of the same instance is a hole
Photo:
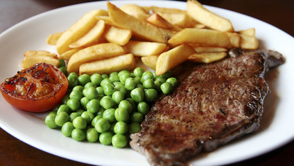
[[[171,71],[157,76],[139,67],[132,73],[123,70],[110,75],[69,73],[67,79],[68,93],[46,116],[46,125],[61,128],[64,136],[77,141],[116,148],[126,147],[130,133],[141,130],[141,122],[159,94],[171,93],[178,84]]]

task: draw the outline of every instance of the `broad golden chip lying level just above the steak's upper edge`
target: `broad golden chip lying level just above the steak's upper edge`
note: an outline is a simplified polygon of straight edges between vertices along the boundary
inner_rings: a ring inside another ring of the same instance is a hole
[[[185,28],[168,40],[169,44],[204,44],[207,46],[219,46],[230,48],[231,42],[227,33],[218,30]]]

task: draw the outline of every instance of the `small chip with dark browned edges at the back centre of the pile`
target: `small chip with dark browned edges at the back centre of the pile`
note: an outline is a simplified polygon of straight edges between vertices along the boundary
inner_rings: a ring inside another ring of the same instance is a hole
[[[153,13],[146,20],[148,21],[148,23],[153,24],[153,25],[160,27],[160,28],[171,29],[171,30],[175,30],[175,31],[182,30],[182,28],[169,23],[168,21],[166,21],[166,19],[162,18],[157,13]]]

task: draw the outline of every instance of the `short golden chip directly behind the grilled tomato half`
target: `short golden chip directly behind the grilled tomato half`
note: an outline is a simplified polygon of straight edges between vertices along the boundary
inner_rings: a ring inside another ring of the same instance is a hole
[[[58,56],[46,50],[28,50],[24,53],[24,59],[21,62],[22,68],[29,68],[37,63],[45,62],[47,64],[59,65]]]

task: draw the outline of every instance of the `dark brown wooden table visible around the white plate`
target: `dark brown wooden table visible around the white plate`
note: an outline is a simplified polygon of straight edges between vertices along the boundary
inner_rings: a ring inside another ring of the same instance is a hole
[[[41,12],[84,2],[88,1],[0,0],[0,33],[19,21]],[[292,0],[203,0],[200,2],[255,17],[294,36],[294,1]],[[294,165],[293,151],[294,141],[268,154],[233,165]],[[26,143],[17,140],[3,129],[0,129],[0,165],[52,166],[86,164],[60,158],[35,149],[35,147],[26,145]]]

